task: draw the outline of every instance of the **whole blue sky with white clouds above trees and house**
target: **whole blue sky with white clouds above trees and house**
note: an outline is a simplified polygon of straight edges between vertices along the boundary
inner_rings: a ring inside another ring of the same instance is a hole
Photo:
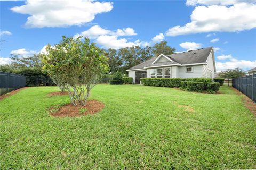
[[[255,0],[0,1],[0,11],[0,64],[81,35],[103,48],[162,40],[177,52],[213,46],[218,71],[256,67]]]

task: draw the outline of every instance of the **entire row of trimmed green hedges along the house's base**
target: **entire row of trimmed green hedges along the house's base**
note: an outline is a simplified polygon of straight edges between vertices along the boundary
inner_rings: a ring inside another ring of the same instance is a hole
[[[210,78],[141,78],[145,86],[181,87],[188,91],[218,91],[220,83],[212,83]]]

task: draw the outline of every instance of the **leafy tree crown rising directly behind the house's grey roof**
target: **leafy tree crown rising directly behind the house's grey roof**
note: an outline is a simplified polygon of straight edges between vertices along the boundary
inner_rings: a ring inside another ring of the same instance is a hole
[[[175,50],[176,50],[175,48],[167,46],[167,41],[161,41],[160,43],[156,43],[153,46],[154,57],[157,57],[160,54],[165,54],[165,55],[174,54]]]

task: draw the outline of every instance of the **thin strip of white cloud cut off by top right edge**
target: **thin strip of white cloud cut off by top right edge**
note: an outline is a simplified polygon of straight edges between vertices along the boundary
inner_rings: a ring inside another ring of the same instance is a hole
[[[196,5],[234,5],[236,3],[247,2],[255,3],[256,0],[187,0],[187,6],[196,6]]]

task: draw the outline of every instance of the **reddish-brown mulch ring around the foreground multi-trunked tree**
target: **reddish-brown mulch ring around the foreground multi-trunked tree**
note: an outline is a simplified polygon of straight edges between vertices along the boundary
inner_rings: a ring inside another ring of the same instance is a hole
[[[50,108],[51,116],[54,117],[79,117],[89,114],[95,114],[101,111],[105,105],[97,100],[89,100],[85,106],[73,106],[68,104],[54,111],[54,107]]]

